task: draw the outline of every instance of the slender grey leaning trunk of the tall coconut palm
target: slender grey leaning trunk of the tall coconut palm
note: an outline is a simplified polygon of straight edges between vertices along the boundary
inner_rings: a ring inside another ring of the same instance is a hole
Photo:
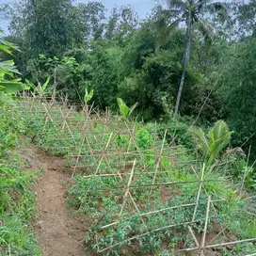
[[[189,10],[186,25],[187,25],[186,26],[186,47],[185,47],[185,53],[184,53],[183,74],[182,74],[180,88],[178,91],[177,100],[176,100],[176,104],[175,104],[173,120],[175,120],[178,115],[181,97],[182,97],[182,93],[183,93],[183,89],[184,89],[185,71],[186,71],[186,68],[187,68],[187,65],[188,65],[189,59],[190,59],[190,47],[191,47],[191,37],[192,37],[192,13],[191,13],[191,10]]]

